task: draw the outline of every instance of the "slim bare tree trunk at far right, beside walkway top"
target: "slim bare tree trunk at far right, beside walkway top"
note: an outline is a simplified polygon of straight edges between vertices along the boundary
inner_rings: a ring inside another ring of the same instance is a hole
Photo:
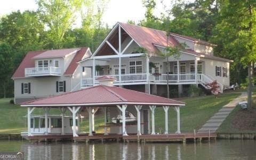
[[[249,63],[248,67],[248,87],[247,87],[247,105],[252,108],[252,78],[253,78],[253,62]]]

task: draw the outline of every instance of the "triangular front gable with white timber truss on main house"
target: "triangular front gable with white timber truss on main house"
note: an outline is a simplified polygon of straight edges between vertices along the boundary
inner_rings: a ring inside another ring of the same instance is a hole
[[[134,38],[125,31],[119,23],[116,23],[92,57],[126,57],[123,54],[136,54],[135,49],[140,47]],[[141,53],[139,53],[141,54]],[[136,56],[139,56],[136,54]],[[128,57],[128,55],[127,55]]]

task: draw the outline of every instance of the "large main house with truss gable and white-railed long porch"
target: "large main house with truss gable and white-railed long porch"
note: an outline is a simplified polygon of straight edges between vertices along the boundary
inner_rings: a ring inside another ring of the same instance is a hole
[[[159,54],[165,52],[166,46],[181,43],[186,43],[186,49],[180,51],[179,57],[169,57],[167,61]],[[161,96],[166,96],[167,79],[179,94],[191,84],[205,86],[214,80],[222,92],[230,83],[232,61],[214,56],[214,46],[174,33],[166,38],[162,30],[117,22],[91,57],[79,61],[81,88],[97,85],[99,76],[110,75],[117,79],[116,86]],[[141,48],[143,52],[139,51]]]

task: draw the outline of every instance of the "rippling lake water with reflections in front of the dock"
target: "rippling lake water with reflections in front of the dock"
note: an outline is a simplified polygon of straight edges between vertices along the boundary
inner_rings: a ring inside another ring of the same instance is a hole
[[[254,140],[205,143],[72,143],[30,144],[0,141],[0,151],[23,151],[25,159],[256,159]]]

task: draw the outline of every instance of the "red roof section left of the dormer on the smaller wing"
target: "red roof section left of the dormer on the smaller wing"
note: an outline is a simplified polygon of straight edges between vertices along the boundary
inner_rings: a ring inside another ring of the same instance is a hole
[[[29,51],[25,58],[21,61],[20,66],[16,69],[12,78],[20,78],[25,76],[25,68],[35,67],[35,60],[32,59],[36,55],[43,53],[44,51]]]

